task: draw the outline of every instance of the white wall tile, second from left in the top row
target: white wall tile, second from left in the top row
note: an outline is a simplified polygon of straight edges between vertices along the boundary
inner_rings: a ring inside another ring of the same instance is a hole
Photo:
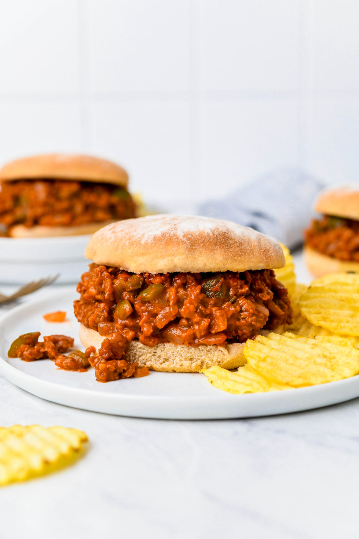
[[[93,92],[189,88],[189,0],[90,0]]]

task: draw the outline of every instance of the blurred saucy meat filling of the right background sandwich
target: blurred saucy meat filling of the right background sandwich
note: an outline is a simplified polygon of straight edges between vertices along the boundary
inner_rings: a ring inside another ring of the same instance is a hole
[[[308,247],[338,260],[359,262],[359,222],[325,215],[305,231]]]

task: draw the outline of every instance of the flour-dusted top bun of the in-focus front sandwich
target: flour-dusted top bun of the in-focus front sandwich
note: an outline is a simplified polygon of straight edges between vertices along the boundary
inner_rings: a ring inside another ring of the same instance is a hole
[[[179,215],[125,219],[91,236],[85,256],[133,273],[241,272],[285,265],[277,240],[231,221]]]

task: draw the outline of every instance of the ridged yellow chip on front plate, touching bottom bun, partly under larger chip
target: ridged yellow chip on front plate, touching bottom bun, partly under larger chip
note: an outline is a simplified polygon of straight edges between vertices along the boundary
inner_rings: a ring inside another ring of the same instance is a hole
[[[223,369],[217,365],[209,369],[203,369],[201,372],[208,377],[208,382],[216,388],[228,391],[229,393],[235,393],[236,395],[290,389],[285,385],[269,383],[248,365],[238,368],[235,372]]]

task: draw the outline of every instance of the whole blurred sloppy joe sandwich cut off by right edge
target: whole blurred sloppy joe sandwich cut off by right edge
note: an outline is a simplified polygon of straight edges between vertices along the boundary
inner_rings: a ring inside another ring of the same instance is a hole
[[[305,259],[315,277],[359,272],[359,184],[322,192],[315,204],[322,216],[305,231]]]

